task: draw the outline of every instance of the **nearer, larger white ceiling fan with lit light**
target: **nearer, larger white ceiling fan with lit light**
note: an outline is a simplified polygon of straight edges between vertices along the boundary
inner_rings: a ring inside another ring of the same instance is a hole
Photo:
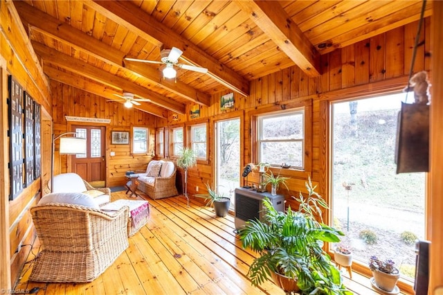
[[[138,60],[136,58],[125,57],[125,60],[131,60],[132,62],[146,62],[148,64],[165,64],[163,68],[164,78],[175,78],[177,76],[177,71],[174,66],[178,66],[180,69],[185,69],[188,71],[195,71],[199,73],[207,73],[208,69],[201,68],[199,66],[191,66],[189,64],[179,64],[179,58],[183,54],[177,47],[172,47],[171,49],[163,49],[160,52],[161,62],[156,60]]]

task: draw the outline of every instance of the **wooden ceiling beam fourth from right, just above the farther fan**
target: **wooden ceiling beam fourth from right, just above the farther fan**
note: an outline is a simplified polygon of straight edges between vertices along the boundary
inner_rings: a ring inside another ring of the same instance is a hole
[[[91,64],[77,60],[74,57],[56,51],[53,48],[49,48],[44,44],[38,42],[32,42],[32,44],[35,53],[42,57],[43,60],[47,60],[63,69],[67,69],[73,73],[77,73],[78,75],[82,75],[102,84],[107,84],[111,87],[122,89],[123,91],[132,92],[143,98],[149,98],[153,104],[169,109],[170,111],[185,114],[185,105],[179,102],[165,98],[154,91],[141,87],[133,82],[129,82],[128,80],[120,78],[107,71],[100,70]]]

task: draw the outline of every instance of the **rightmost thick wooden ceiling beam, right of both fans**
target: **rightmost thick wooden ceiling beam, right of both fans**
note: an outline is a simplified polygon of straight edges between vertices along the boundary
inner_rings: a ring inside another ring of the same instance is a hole
[[[318,77],[320,53],[275,1],[235,0],[257,26],[309,77]]]

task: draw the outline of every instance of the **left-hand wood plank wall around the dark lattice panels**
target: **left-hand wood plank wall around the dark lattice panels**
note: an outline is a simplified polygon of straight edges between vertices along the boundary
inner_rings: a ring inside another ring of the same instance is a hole
[[[15,284],[24,261],[28,256],[30,244],[35,238],[35,232],[30,222],[28,208],[33,206],[41,195],[40,179],[23,190],[14,201],[8,201],[9,188],[9,154],[8,154],[8,75],[14,78],[24,87],[30,96],[42,105],[42,117],[47,119],[48,109],[51,105],[51,91],[49,82],[43,74],[42,68],[33,49],[30,47],[26,32],[19,21],[19,16],[12,2],[0,1],[0,96],[1,96],[1,156],[0,168],[1,188],[0,204],[0,228],[1,244],[0,252],[0,289],[5,292]],[[42,134],[42,143],[50,141],[50,138]],[[42,161],[48,160],[47,152],[42,150]],[[49,158],[50,159],[50,158]],[[44,164],[44,163],[43,163]],[[47,165],[43,165],[43,169]],[[45,177],[45,175],[42,175]],[[19,245],[23,247],[19,247]],[[17,251],[18,250],[18,251]]]

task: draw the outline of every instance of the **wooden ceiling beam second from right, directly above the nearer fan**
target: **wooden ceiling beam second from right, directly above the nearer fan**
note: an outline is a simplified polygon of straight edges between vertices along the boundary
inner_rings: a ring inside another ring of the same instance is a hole
[[[84,4],[117,24],[129,28],[133,33],[156,46],[181,49],[183,60],[194,66],[207,68],[207,75],[211,78],[242,96],[249,96],[249,82],[246,78],[229,69],[185,37],[175,33],[171,28],[161,24],[132,2],[84,1]]]

